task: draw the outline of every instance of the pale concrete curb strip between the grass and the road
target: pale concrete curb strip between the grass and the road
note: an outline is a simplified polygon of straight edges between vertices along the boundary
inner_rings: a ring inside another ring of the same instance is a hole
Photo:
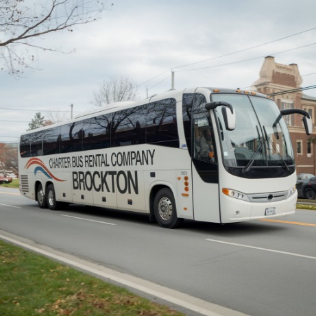
[[[39,254],[43,254],[45,256],[58,260],[62,263],[66,263],[73,267],[77,267],[84,271],[88,271],[97,276],[101,276],[102,278],[118,282],[127,287],[132,287],[133,289],[142,291],[143,293],[147,293],[149,295],[153,295],[154,297],[160,297],[162,300],[166,300],[167,302],[183,306],[184,308],[187,308],[196,313],[200,313],[206,316],[247,316],[238,311],[233,311],[230,308],[200,300],[197,297],[193,297],[191,295],[187,295],[185,293],[163,287],[159,284],[155,284],[141,278],[136,278],[134,276],[130,276],[128,274],[124,274],[122,272],[88,262],[87,260],[82,260],[81,258],[77,258],[70,254],[58,252],[57,250],[53,250],[47,246],[38,245],[32,241],[27,241],[26,239],[23,239],[23,241],[19,241],[18,239],[21,239],[21,237],[13,235],[11,238],[9,236],[3,235],[3,233],[5,234],[5,232],[0,230],[0,239],[9,241],[10,243],[15,243],[16,245],[25,247],[29,250],[38,252]],[[40,247],[44,249],[41,249]]]

